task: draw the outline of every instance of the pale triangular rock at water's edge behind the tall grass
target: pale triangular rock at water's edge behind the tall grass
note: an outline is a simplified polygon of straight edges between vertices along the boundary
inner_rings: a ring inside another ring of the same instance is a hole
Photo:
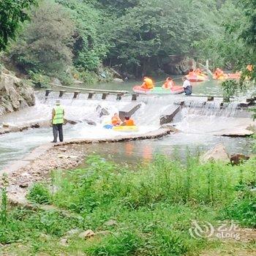
[[[230,157],[227,154],[225,146],[218,144],[200,157],[200,162],[208,161],[230,162]]]

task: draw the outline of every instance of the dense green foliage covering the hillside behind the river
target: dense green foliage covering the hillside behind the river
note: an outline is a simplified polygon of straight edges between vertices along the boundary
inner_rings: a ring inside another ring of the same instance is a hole
[[[242,67],[252,41],[244,41],[242,30],[252,31],[246,10],[254,7],[252,1],[245,4],[247,9],[232,0],[43,0],[10,56],[22,72],[63,78],[66,69],[84,80],[89,72],[104,73],[102,64],[124,74],[152,75],[170,56]]]

